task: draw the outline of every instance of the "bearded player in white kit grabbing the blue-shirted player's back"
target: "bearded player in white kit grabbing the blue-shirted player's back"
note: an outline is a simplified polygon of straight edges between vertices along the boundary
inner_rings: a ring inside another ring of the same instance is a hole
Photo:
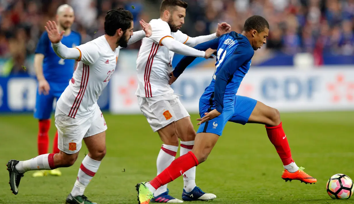
[[[137,58],[139,107],[154,132],[163,142],[157,158],[157,174],[160,174],[175,159],[178,138],[181,139],[181,156],[192,150],[195,130],[190,116],[169,85],[173,54],[209,58],[213,50],[199,51],[192,46],[217,38],[230,31],[227,23],[221,23],[211,35],[188,37],[179,29],[184,23],[187,3],[182,0],[164,0],[160,7],[160,18],[149,22],[152,36],[144,38]],[[189,47],[191,46],[191,47]],[[172,76],[173,77],[173,76]],[[214,194],[204,193],[195,184],[195,167],[183,174],[182,200],[212,200]],[[183,203],[168,194],[167,185],[154,193],[152,202]]]

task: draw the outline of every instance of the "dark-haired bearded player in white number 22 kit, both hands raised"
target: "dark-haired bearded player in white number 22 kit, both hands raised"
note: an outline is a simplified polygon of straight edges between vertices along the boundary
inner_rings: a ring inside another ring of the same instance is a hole
[[[133,33],[133,15],[122,8],[110,10],[105,16],[105,35],[75,48],[60,41],[64,31],[58,33],[55,22],[47,22],[48,38],[55,53],[63,59],[79,61],[69,86],[57,102],[55,125],[58,129],[58,154],[44,154],[27,161],[10,160],[7,163],[10,186],[18,193],[21,177],[30,170],[51,170],[70,167],[79,155],[82,139],[89,150],[79,169],[72,192],[66,199],[69,204],[91,204],[84,190],[98,170],[106,153],[105,130],[99,95],[107,86],[118,60],[119,49],[151,36],[148,23],[141,21],[143,30]]]

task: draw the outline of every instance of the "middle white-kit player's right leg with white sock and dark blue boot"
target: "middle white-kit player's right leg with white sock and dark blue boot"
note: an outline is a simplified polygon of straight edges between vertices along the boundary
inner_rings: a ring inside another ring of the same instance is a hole
[[[178,101],[178,104],[180,102]],[[180,109],[187,113],[182,104],[179,105]],[[178,111],[178,112],[183,112]],[[176,112],[176,111],[175,111]],[[179,113],[177,113],[179,114]],[[188,114],[188,113],[187,113]],[[176,121],[176,129],[179,139],[181,139],[181,149],[179,151],[180,156],[187,154],[194,147],[195,140],[195,130],[193,128],[192,121],[190,121],[190,116],[184,117]],[[212,193],[205,193],[195,184],[195,171],[196,167],[192,167],[183,174],[183,193],[182,200],[184,201],[197,201],[197,200],[212,200],[216,196]],[[192,196],[193,195],[193,196]]]

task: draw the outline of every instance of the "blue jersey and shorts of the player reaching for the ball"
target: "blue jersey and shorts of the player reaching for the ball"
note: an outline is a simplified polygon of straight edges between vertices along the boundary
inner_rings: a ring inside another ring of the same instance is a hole
[[[222,113],[212,121],[203,123],[200,132],[221,135],[227,121],[247,123],[257,101],[248,97],[236,96],[241,81],[250,69],[254,50],[246,36],[236,32],[224,34],[214,40],[201,43],[195,49],[206,51],[217,49],[215,72],[208,87],[199,100],[199,112],[216,109]],[[177,64],[173,75],[178,77],[193,62],[195,57],[183,57]]]

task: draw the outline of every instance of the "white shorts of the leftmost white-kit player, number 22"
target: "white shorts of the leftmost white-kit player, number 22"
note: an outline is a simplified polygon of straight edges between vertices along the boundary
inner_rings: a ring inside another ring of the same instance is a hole
[[[56,108],[55,126],[58,129],[58,148],[68,154],[80,151],[82,139],[107,130],[98,105],[91,116],[80,119],[69,117]]]

